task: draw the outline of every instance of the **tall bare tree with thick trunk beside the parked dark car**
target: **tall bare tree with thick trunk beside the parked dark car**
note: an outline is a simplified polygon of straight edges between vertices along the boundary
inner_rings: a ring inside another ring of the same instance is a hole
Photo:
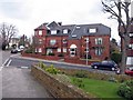
[[[122,62],[120,66],[120,72],[124,73],[126,67],[126,50],[129,49],[130,42],[130,27],[132,24],[133,18],[130,17],[130,6],[131,0],[102,0],[103,11],[109,12],[111,19],[117,21],[117,31],[121,38],[121,52]]]

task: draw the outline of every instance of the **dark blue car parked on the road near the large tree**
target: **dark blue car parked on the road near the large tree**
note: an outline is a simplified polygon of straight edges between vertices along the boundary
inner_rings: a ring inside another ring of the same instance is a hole
[[[112,71],[117,70],[117,64],[112,60],[104,60],[101,62],[94,62],[91,64],[91,67],[93,69],[108,69],[108,70],[112,70]]]

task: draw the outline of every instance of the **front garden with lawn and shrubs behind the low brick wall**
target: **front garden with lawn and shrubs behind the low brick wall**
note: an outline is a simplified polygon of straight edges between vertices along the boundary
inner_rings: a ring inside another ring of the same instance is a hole
[[[110,76],[83,70],[57,69],[40,62],[37,67],[71,83],[95,98],[133,99],[133,78],[127,76]]]

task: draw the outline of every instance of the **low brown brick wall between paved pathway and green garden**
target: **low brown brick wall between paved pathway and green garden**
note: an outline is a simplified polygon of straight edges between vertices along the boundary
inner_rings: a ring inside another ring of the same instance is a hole
[[[54,76],[43,71],[39,67],[31,67],[31,74],[38,79],[50,93],[55,98],[84,98],[85,100],[93,99],[92,96],[86,94],[83,90],[54,78]]]

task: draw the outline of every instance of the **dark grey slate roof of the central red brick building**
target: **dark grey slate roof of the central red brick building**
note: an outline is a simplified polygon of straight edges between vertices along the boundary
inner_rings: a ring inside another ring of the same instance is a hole
[[[58,30],[54,36],[69,36],[69,39],[80,39],[83,36],[101,36],[108,34],[111,36],[111,28],[102,24],[102,23],[93,23],[93,24],[66,24],[62,26],[57,23],[55,21],[51,23],[43,23],[37,29],[47,29],[47,30]],[[68,29],[68,33],[63,33],[63,30]],[[95,32],[90,32],[90,29],[95,29]],[[52,36],[48,33],[48,36]]]

